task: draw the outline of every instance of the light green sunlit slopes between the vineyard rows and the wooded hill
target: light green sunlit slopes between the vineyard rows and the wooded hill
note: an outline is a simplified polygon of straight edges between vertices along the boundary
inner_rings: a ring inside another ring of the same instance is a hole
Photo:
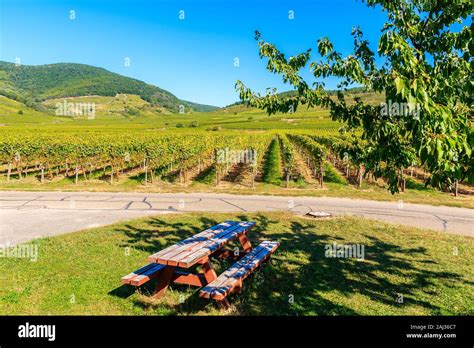
[[[50,99],[43,102],[54,115],[57,103],[94,103],[95,117],[52,116],[41,113],[11,99],[0,96],[0,122],[6,127],[41,127],[53,125],[61,131],[62,127],[84,128],[131,127],[132,129],[176,130],[177,128],[196,129],[328,129],[336,132],[340,126],[329,117],[329,112],[321,108],[300,107],[294,114],[278,114],[272,117],[265,112],[244,105],[236,105],[212,112],[170,113],[164,108],[151,106],[136,95],[117,95],[116,97],[88,96]],[[18,114],[23,110],[23,114]]]

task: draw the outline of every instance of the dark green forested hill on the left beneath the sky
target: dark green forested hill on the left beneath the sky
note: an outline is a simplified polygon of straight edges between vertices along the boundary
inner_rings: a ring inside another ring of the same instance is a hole
[[[179,111],[212,111],[217,107],[187,102],[172,93],[140,80],[84,64],[58,63],[20,65],[0,62],[0,95],[17,100],[36,110],[41,102],[64,97],[133,94],[153,106]]]

